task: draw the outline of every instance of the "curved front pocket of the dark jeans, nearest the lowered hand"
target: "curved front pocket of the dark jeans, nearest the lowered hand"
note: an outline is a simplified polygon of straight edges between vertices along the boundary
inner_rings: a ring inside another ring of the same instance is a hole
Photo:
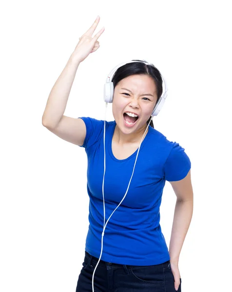
[[[154,285],[164,285],[163,269],[155,266],[132,267],[131,273],[139,281],[153,283]]]

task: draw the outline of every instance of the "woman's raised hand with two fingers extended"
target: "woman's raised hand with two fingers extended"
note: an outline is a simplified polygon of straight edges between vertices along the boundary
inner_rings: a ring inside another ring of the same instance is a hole
[[[100,17],[97,16],[95,22],[87,30],[87,32],[79,37],[79,42],[77,43],[77,46],[72,54],[73,59],[77,59],[79,62],[82,62],[90,53],[97,51],[100,46],[97,39],[105,30],[105,28],[102,27],[102,29],[94,37],[92,37],[99,20]]]

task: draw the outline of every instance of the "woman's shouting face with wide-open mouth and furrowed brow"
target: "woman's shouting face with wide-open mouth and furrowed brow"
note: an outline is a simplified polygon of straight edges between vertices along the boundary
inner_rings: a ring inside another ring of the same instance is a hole
[[[119,129],[124,134],[130,134],[146,128],[156,101],[155,82],[150,76],[136,74],[118,82],[114,90],[112,110]]]

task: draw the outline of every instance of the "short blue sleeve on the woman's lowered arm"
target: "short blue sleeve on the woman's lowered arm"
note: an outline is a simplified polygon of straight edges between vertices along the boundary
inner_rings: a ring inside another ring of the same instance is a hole
[[[173,148],[164,164],[165,180],[180,181],[186,177],[191,169],[191,161],[179,143],[174,142]]]

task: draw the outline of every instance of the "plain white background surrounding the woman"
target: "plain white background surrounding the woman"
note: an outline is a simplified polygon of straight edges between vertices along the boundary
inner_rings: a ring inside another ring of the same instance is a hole
[[[192,162],[193,219],[182,292],[232,291],[230,1],[9,1],[0,9],[0,291],[75,292],[89,198],[84,148],[42,126],[49,93],[97,15],[100,48],[77,69],[65,115],[104,119],[103,85],[144,59],[169,91],[154,125]],[[107,120],[113,120],[111,105]],[[175,194],[166,183],[169,246]]]

